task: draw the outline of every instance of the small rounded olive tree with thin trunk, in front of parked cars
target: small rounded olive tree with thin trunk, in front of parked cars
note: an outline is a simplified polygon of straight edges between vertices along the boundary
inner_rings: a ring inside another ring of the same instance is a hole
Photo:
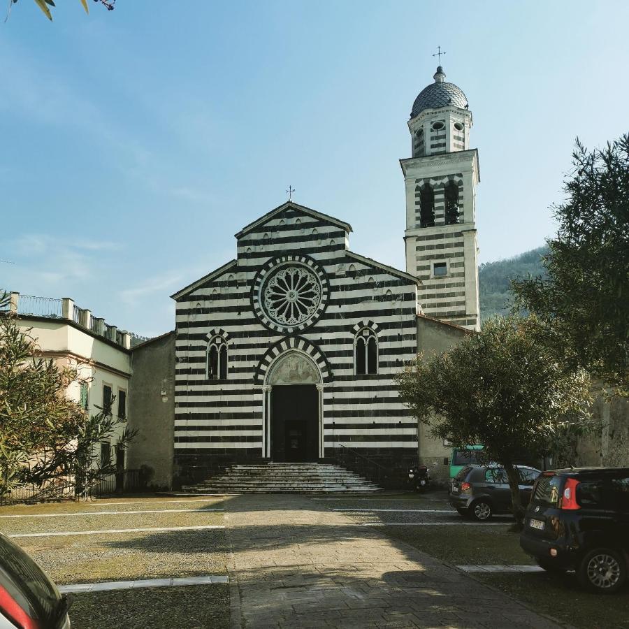
[[[535,317],[496,317],[449,351],[418,356],[398,376],[403,401],[434,438],[459,448],[483,444],[487,458],[504,466],[517,521],[514,464],[525,452],[551,454],[591,423],[588,376],[566,367],[546,342],[552,333]]]

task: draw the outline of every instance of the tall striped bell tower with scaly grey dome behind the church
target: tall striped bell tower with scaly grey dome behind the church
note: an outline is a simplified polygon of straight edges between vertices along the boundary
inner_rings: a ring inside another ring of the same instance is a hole
[[[408,121],[412,157],[400,159],[406,184],[406,270],[421,280],[428,317],[478,330],[476,187],[472,113],[442,66],[415,99]]]

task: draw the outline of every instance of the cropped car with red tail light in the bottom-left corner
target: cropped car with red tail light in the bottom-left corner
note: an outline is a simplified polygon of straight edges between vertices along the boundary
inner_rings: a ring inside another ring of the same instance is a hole
[[[70,629],[69,606],[41,567],[0,533],[0,629]]]

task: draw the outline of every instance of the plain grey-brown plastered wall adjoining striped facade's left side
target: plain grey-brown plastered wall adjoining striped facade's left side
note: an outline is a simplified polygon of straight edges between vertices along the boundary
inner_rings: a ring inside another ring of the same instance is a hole
[[[148,486],[171,489],[175,419],[175,333],[134,347],[131,353],[129,428],[138,435],[129,447],[128,468],[147,465]]]

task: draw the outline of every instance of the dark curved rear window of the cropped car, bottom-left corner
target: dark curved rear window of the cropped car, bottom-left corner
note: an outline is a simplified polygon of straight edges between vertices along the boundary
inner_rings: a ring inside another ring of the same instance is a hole
[[[0,585],[9,592],[20,592],[16,602],[33,619],[50,621],[57,616],[61,602],[59,591],[20,547],[0,535]],[[23,606],[28,600],[29,609]]]

